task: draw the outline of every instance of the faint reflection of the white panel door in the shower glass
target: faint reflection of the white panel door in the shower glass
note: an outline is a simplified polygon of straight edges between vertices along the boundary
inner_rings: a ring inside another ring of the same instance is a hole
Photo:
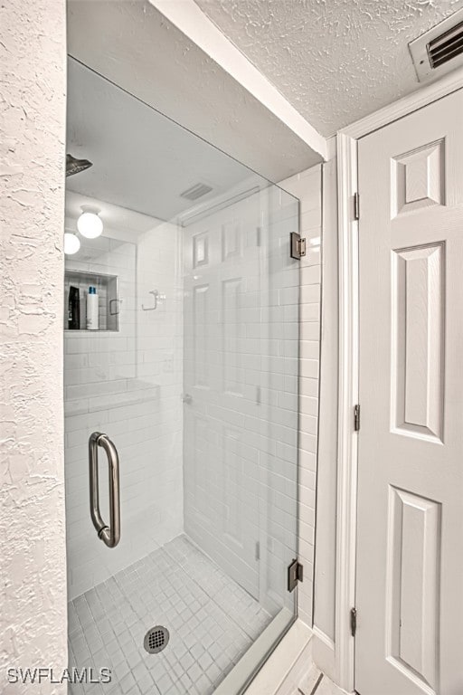
[[[259,452],[246,418],[260,371],[248,339],[260,323],[259,214],[252,195],[184,230],[184,525],[256,598]]]

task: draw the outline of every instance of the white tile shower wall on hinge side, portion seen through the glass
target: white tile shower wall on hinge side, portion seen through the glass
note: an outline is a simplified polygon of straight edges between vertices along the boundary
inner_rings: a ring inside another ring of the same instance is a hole
[[[185,530],[271,611],[293,600],[297,229],[297,202],[271,187],[190,225],[184,251]],[[303,367],[311,381],[317,361]]]

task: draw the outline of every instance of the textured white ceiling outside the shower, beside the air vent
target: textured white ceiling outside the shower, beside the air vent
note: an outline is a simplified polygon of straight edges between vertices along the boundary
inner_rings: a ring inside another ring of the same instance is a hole
[[[420,87],[408,43],[463,0],[195,0],[325,136]]]

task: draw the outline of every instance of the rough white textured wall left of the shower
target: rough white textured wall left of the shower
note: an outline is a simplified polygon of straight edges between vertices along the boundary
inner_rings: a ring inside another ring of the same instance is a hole
[[[0,691],[66,666],[62,463],[62,0],[0,7]],[[42,684],[37,692],[64,693]]]

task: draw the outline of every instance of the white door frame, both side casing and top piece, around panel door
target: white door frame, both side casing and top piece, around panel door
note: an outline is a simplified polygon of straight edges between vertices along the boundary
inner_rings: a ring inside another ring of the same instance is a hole
[[[339,387],[335,549],[335,681],[354,692],[354,644],[350,614],[355,605],[356,509],[358,434],[354,406],[358,404],[359,377],[359,268],[358,221],[354,214],[357,193],[357,141],[395,120],[428,106],[463,88],[463,69],[375,111],[337,132],[337,206],[339,260]],[[362,201],[360,201],[361,209]],[[366,694],[368,695],[368,694]]]

